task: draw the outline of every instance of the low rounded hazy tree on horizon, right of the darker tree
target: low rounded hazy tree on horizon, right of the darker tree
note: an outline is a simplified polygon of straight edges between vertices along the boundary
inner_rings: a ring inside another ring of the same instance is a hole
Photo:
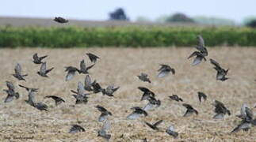
[[[193,23],[193,19],[187,17],[184,13],[174,13],[171,17],[166,19],[166,22],[190,22]]]

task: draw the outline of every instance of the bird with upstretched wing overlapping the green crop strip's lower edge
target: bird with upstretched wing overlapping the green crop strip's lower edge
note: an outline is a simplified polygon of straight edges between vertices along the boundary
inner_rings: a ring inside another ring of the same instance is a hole
[[[196,56],[196,58],[193,60],[192,65],[198,65],[201,63],[201,61],[204,59],[206,61],[206,56],[208,56],[208,50],[204,46],[204,39],[202,36],[197,36],[198,45],[196,46],[198,51],[194,51],[192,54],[189,55],[189,58],[192,58]]]

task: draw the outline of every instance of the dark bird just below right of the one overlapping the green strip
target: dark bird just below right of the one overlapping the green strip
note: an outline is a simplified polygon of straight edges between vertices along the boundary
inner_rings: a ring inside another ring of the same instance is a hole
[[[225,70],[223,68],[220,67],[220,64],[218,62],[216,62],[215,60],[213,60],[212,58],[210,58],[210,62],[212,63],[212,65],[215,65],[215,67],[213,69],[216,69],[217,74],[216,74],[216,80],[227,80],[228,77],[226,77],[227,72],[229,69]]]

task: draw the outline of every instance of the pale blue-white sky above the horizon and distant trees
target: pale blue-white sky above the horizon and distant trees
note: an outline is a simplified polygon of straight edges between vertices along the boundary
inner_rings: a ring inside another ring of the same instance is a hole
[[[2,0],[0,16],[67,17],[107,20],[109,12],[123,7],[128,17],[155,18],[181,12],[194,16],[224,17],[241,22],[256,15],[256,0]]]

